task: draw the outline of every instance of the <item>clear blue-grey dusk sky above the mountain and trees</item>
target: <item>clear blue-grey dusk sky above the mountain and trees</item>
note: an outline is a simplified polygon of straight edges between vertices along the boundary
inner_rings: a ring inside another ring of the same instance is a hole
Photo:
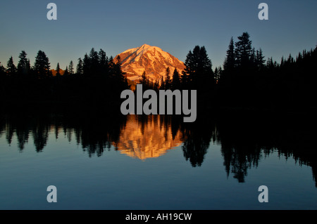
[[[47,4],[57,5],[57,20],[47,20]],[[268,4],[269,20],[259,20],[258,6]],[[317,1],[305,0],[144,0],[67,1],[1,0],[0,62],[26,51],[31,65],[37,51],[65,69],[77,65],[92,47],[107,55],[142,44],[159,46],[185,61],[194,46],[205,46],[213,68],[223,64],[230,38],[249,32],[253,46],[280,62],[317,44]]]

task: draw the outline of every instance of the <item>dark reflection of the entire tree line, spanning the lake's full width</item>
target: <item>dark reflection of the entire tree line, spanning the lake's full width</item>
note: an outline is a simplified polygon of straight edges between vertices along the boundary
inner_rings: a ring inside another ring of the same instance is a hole
[[[52,132],[56,139],[61,135],[69,141],[74,138],[89,157],[93,154],[101,156],[111,146],[116,149],[126,122],[127,117],[118,114],[1,115],[0,136],[5,135],[8,144],[12,144],[13,136],[16,136],[20,151],[32,136],[36,152],[42,152]],[[293,157],[297,164],[311,166],[317,187],[317,131],[313,129],[316,123],[309,117],[294,119],[267,114],[221,114],[198,118],[194,123],[183,123],[182,116],[137,116],[137,124],[143,131],[151,126],[166,130],[166,139],[167,135],[172,135],[173,140],[175,136],[182,136],[184,157],[193,167],[203,164],[212,141],[221,145],[228,176],[232,173],[243,183],[248,169],[257,167],[262,157],[278,150],[280,157]]]

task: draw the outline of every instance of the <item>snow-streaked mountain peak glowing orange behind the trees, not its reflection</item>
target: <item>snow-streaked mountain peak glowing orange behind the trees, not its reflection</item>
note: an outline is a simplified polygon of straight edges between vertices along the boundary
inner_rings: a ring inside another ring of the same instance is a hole
[[[170,67],[170,76],[173,75],[175,67],[180,74],[185,69],[182,61],[157,46],[144,44],[138,48],[128,49],[119,55],[123,72],[126,72],[128,79],[136,82],[142,77],[144,71],[150,80],[161,81],[162,76],[165,79],[167,67]],[[115,61],[117,58],[118,55]]]

